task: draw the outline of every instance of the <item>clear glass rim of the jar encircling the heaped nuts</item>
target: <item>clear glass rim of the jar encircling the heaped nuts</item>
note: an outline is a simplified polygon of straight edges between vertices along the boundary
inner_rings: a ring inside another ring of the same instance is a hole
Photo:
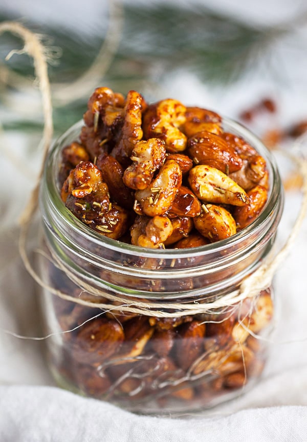
[[[270,190],[268,199],[264,209],[257,216],[257,218],[247,227],[243,228],[239,232],[230,236],[229,238],[219,240],[215,243],[210,243],[204,246],[198,246],[186,249],[147,249],[140,246],[134,246],[131,244],[123,243],[120,240],[108,238],[107,236],[101,235],[93,229],[87,227],[82,223],[73,213],[65,207],[61,197],[60,189],[57,184],[56,174],[54,173],[55,167],[57,167],[58,155],[65,143],[68,144],[68,138],[75,134],[75,137],[70,140],[72,142],[79,136],[79,131],[83,125],[83,120],[80,120],[73,126],[71,126],[66,132],[64,132],[54,143],[52,150],[49,153],[47,159],[45,170],[44,170],[44,182],[46,183],[48,195],[50,195],[50,202],[54,210],[56,210],[58,216],[61,217],[64,223],[69,225],[72,231],[75,231],[79,235],[82,235],[84,239],[88,239],[92,243],[95,243],[98,247],[103,246],[112,251],[119,253],[126,253],[127,255],[141,254],[144,257],[152,258],[192,258],[202,255],[209,255],[212,252],[219,252],[228,248],[232,248],[240,243],[244,238],[248,237],[251,232],[254,234],[257,230],[262,229],[262,225],[266,220],[271,217],[272,213],[276,210],[276,204],[282,193],[281,179],[278,172],[278,168],[275,162],[275,158],[272,153],[266,148],[264,143],[254,135],[248,128],[242,124],[227,118],[222,117],[223,125],[231,130],[235,135],[243,137],[249,144],[251,144],[257,152],[264,156],[267,162],[267,168],[269,169],[269,180],[270,180]],[[45,206],[46,202],[40,198],[40,204]],[[282,204],[280,205],[280,209]],[[279,210],[281,212],[281,210]],[[280,213],[281,215],[281,213]],[[279,215],[279,216],[280,216]]]

